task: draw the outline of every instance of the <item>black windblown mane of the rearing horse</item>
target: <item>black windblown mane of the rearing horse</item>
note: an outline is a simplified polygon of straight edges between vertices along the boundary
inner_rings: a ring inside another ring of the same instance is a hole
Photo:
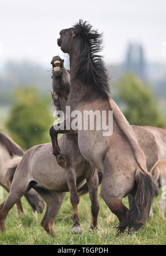
[[[97,54],[102,50],[102,33],[93,30],[88,22],[81,19],[73,28],[81,38],[81,61],[76,77],[108,98],[110,87],[107,69],[103,57]]]

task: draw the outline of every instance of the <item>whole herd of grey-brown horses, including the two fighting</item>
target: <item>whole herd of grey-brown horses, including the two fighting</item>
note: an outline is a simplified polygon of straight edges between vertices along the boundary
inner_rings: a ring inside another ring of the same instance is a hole
[[[70,192],[73,208],[72,233],[81,233],[78,213],[79,192],[89,192],[91,228],[97,228],[99,211],[97,189],[120,221],[117,235],[128,228],[132,233],[152,216],[152,203],[159,188],[166,186],[166,128],[130,126],[110,98],[110,86],[101,50],[102,35],[88,22],[80,20],[74,27],[60,31],[58,46],[70,56],[70,70],[59,56],[53,57],[53,101],[56,109],[71,111],[113,111],[113,133],[102,130],[67,128],[59,124],[50,128],[51,143],[23,150],[0,134],[0,184],[9,192],[0,205],[0,230],[5,230],[9,210],[16,203],[23,212],[20,198],[24,195],[33,210],[46,212],[42,226],[50,235],[53,224]],[[107,118],[107,116],[106,116]],[[72,118],[70,120],[71,124]],[[69,122],[68,122],[69,124]],[[58,139],[58,134],[61,137]],[[162,159],[162,160],[161,160]],[[99,170],[99,171],[98,171]],[[99,178],[98,178],[99,177]],[[122,199],[128,196],[129,209]],[[164,214],[165,199],[159,209]]]

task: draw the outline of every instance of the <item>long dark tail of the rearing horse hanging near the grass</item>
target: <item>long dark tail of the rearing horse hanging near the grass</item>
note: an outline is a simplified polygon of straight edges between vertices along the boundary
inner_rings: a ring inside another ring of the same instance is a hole
[[[137,212],[137,222],[141,225],[146,223],[149,217],[151,205],[154,197],[154,185],[151,174],[144,169],[137,169],[135,173],[137,191],[135,195],[136,208],[133,210],[133,215]],[[131,215],[131,220],[133,216]]]

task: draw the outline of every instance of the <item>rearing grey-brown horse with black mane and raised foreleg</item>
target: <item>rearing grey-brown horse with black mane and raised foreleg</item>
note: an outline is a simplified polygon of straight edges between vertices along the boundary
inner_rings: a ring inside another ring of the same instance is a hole
[[[84,111],[106,111],[107,114],[108,111],[113,111],[111,136],[103,136],[105,130],[67,128],[68,119],[61,124],[64,129],[59,129],[58,125],[50,128],[53,154],[58,164],[65,168],[73,197],[71,203],[74,219],[79,219],[79,195],[74,170],[71,167],[73,159],[64,148],[59,148],[59,133],[66,134],[66,138],[74,135],[87,162],[103,172],[100,194],[120,220],[118,234],[123,233],[126,227],[129,227],[129,231],[138,230],[146,223],[149,215],[153,200],[153,184],[136,135],[116,103],[109,97],[106,68],[101,56],[97,55],[101,49],[101,34],[92,30],[89,23],[80,21],[74,27],[60,31],[58,46],[70,56],[71,89],[66,105],[70,106],[71,113],[79,111],[84,117]],[[122,203],[122,198],[126,195],[130,196],[130,209]]]

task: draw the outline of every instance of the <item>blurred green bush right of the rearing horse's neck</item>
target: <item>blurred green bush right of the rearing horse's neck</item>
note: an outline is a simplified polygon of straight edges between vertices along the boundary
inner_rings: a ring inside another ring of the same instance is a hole
[[[130,124],[142,126],[165,126],[165,118],[160,114],[151,87],[127,73],[115,84],[116,99],[123,103],[125,117]]]

